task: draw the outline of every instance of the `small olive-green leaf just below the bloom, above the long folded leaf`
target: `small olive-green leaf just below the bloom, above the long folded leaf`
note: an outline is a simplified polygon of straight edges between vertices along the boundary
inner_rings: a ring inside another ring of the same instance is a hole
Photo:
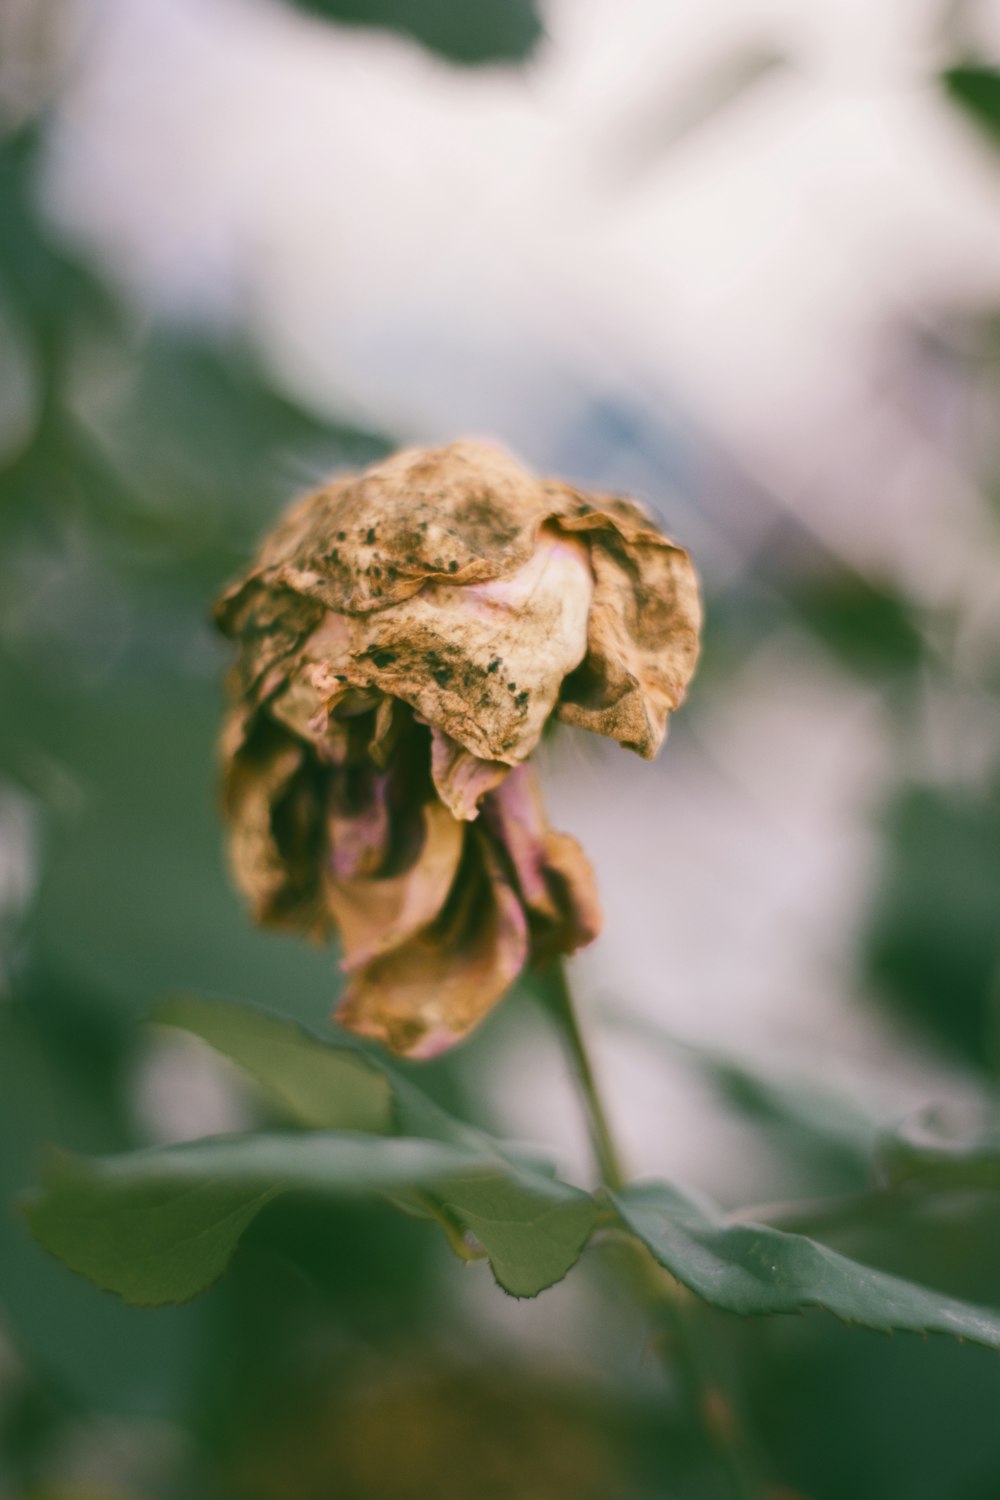
[[[393,1128],[393,1090],[357,1047],[324,1046],[301,1026],[228,1000],[174,996],[154,1020],[235,1062],[289,1119],[312,1130]]]

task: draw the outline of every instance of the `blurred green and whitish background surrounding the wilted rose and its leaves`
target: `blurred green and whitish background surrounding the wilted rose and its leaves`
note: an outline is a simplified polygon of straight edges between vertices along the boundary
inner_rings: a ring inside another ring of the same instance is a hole
[[[564,732],[574,980],[625,1154],[862,1192],[1000,1066],[1000,4],[0,0],[0,1494],[712,1500],[594,1248],[535,1304],[288,1198],[169,1311],[13,1210],[45,1143],[261,1108],[165,993],[325,1026],[214,806],[220,585],[279,507],[487,436],[691,548],[655,765]],[[589,1180],[516,993],[421,1082]],[[862,1204],[868,1203],[862,1197]],[[996,1204],[823,1234],[1000,1305]],[[820,1314],[717,1335],[775,1497],[996,1500],[1000,1364]]]

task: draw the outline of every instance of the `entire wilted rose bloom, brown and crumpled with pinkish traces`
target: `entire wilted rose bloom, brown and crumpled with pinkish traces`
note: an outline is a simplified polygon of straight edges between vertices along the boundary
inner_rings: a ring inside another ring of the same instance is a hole
[[[217,618],[235,878],[258,921],[339,932],[345,1026],[430,1056],[597,936],[526,762],[553,716],[654,756],[684,698],[697,584],[637,506],[414,448],[292,506]]]

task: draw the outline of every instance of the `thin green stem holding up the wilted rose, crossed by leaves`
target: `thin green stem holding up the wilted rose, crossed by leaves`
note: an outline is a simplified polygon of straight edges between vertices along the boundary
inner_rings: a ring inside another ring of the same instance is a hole
[[[628,1176],[609,1125],[561,960],[550,966],[547,981],[546,1004],[580,1086],[601,1182],[618,1192]],[[763,1500],[768,1490],[760,1464],[732,1395],[724,1353],[717,1347],[715,1330],[706,1326],[702,1305],[631,1236],[624,1245],[628,1248],[630,1292],[657,1326],[657,1353],[667,1374],[678,1378],[685,1402],[726,1474],[733,1500]]]

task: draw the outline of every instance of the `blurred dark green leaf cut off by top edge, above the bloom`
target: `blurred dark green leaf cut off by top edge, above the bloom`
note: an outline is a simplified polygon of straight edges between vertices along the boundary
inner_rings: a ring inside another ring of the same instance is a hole
[[[402,32],[456,63],[522,62],[541,38],[534,0],[295,0],[313,15]]]

